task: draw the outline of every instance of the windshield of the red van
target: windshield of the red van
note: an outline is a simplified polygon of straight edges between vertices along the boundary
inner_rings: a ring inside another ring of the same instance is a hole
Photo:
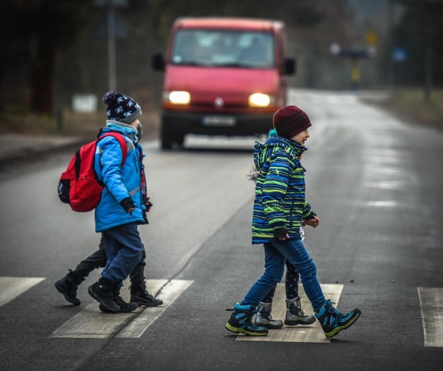
[[[179,30],[171,63],[183,66],[273,68],[274,37],[269,32]]]

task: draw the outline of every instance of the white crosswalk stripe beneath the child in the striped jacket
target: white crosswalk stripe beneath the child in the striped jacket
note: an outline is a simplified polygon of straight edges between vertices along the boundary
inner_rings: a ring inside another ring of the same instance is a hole
[[[329,285],[322,284],[321,288],[325,298],[331,299],[332,303],[338,304],[343,285]],[[312,314],[313,310],[311,303],[300,285],[298,290],[300,295],[302,309],[305,314]],[[275,290],[275,295],[272,303],[272,316],[274,319],[281,319],[284,321],[286,315],[286,302],[284,299],[286,294],[284,292],[284,283],[279,283]],[[238,341],[287,341],[291,343],[329,343],[330,339],[325,338],[325,334],[320,327],[318,321],[312,325],[297,325],[293,327],[283,326],[278,330],[269,330],[267,336],[245,336],[243,334],[237,336]]]

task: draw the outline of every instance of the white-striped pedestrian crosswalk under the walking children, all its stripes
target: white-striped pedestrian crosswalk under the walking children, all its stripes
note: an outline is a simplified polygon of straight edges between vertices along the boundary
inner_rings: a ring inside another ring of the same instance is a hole
[[[17,296],[24,294],[28,289],[45,280],[41,277],[0,277],[0,307],[6,305]],[[116,337],[121,339],[139,338],[170,307],[179,296],[193,283],[192,280],[147,280],[150,292],[159,292],[158,297],[163,300],[159,307],[137,308],[131,313],[104,315],[98,309],[97,303],[84,307],[78,314],[69,318],[60,327],[57,327],[50,338],[90,338],[105,339]],[[327,298],[333,303],[340,301],[343,285],[321,285]],[[160,290],[160,291],[159,291]],[[129,301],[129,291],[121,293]],[[309,312],[311,305],[300,285],[302,307]],[[418,287],[420,312],[425,347],[443,348],[443,289],[437,287]],[[280,283],[275,290],[273,300],[273,317],[284,318],[286,312],[284,283]],[[312,325],[287,327],[280,330],[271,330],[268,336],[236,337],[237,341],[274,341],[292,343],[329,343],[325,339],[318,322]]]

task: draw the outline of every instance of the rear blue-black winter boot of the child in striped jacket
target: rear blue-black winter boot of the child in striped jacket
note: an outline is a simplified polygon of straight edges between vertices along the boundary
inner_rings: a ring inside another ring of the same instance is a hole
[[[268,329],[252,323],[252,316],[257,313],[253,305],[235,303],[233,314],[230,315],[225,327],[227,330],[251,336],[266,336]]]

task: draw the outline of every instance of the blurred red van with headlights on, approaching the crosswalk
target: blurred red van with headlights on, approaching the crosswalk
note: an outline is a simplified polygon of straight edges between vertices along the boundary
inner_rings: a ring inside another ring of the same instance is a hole
[[[179,18],[165,58],[161,146],[181,146],[186,134],[255,135],[272,127],[286,104],[287,75],[282,21],[241,18]]]

